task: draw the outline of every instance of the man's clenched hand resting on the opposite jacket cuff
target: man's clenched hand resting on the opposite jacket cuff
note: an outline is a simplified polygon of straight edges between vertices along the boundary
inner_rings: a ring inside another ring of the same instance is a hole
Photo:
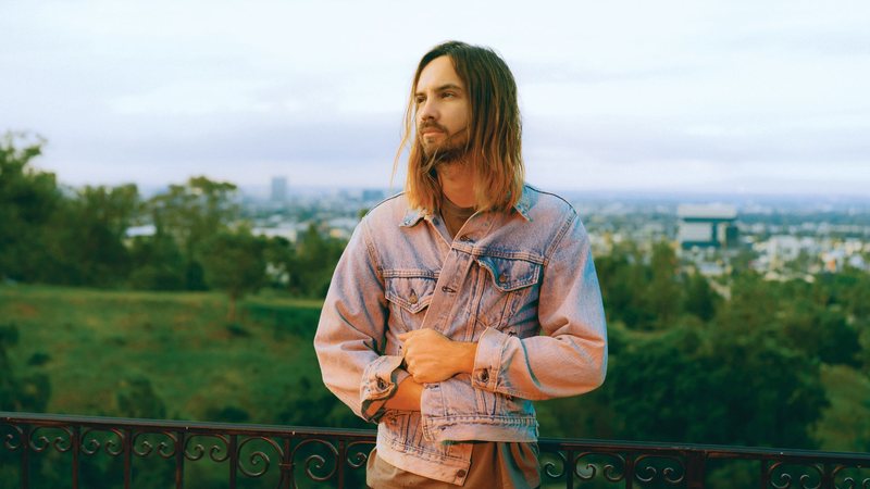
[[[471,373],[477,343],[453,341],[434,329],[402,333],[405,364],[415,383],[439,383]]]

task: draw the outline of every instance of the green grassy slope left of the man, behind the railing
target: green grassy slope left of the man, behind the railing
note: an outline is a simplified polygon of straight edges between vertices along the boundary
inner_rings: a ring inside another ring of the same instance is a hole
[[[49,412],[115,415],[119,390],[147,378],[170,417],[231,405],[270,423],[301,377],[319,377],[320,302],[254,297],[234,324],[227,308],[211,292],[0,287],[0,324],[20,334],[10,360],[49,375]]]

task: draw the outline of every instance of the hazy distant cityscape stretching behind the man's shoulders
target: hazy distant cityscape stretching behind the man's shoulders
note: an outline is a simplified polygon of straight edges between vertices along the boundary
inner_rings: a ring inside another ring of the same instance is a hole
[[[312,223],[348,239],[361,215],[397,190],[241,188],[256,234],[290,241]],[[769,280],[805,279],[844,267],[870,271],[870,199],[771,196],[561,192],[583,218],[596,255],[635,242],[642,251],[667,241],[685,267],[708,278],[749,266]]]

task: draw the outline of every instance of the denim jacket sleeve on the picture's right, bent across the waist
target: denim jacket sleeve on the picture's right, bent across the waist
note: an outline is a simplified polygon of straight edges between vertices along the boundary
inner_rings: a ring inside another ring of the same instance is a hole
[[[473,386],[522,399],[575,396],[604,383],[607,327],[589,239],[571,210],[545,255],[540,335],[487,328],[477,342]]]

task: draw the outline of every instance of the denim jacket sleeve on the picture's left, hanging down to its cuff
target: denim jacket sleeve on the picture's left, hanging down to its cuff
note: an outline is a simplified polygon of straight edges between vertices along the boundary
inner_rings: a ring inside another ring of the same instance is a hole
[[[335,268],[314,350],[326,387],[355,414],[376,423],[409,374],[400,368],[401,356],[382,354],[388,313],[371,242],[363,220]]]

